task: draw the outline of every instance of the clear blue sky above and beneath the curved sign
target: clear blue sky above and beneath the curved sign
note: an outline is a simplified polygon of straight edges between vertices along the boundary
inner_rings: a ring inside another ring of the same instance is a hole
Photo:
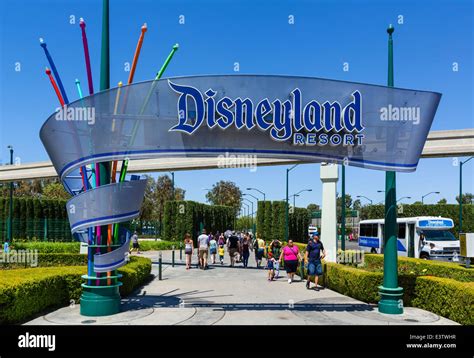
[[[85,88],[86,71],[79,18],[84,17],[95,87],[100,65],[101,6],[92,0],[3,0],[0,5],[0,162],[6,146],[22,163],[47,160],[39,129],[57,107],[44,74],[43,37],[69,99],[74,80]],[[180,24],[184,15],[184,24]],[[289,24],[289,16],[294,24]],[[399,24],[403,16],[403,24]],[[71,16],[75,24],[70,24]],[[141,25],[148,24],[135,81],[155,76],[174,43],[180,49],[165,76],[240,73],[288,74],[386,84],[388,24],[395,26],[395,85],[441,92],[432,130],[473,128],[473,5],[471,1],[111,1],[111,85],[126,81]],[[343,71],[348,63],[349,71]],[[458,71],[453,71],[453,63]],[[20,64],[20,71],[16,71]],[[399,174],[397,196],[406,203],[430,195],[454,202],[459,167],[453,158],[422,159],[415,173]],[[384,172],[349,167],[346,192],[383,200]],[[474,161],[465,166],[465,191],[474,192]],[[285,193],[285,167],[220,169],[176,173],[188,199],[204,201],[218,180],[260,188],[267,199]],[[290,193],[311,188],[298,206],[321,202],[319,165],[291,173]],[[258,195],[253,193],[254,195]]]

